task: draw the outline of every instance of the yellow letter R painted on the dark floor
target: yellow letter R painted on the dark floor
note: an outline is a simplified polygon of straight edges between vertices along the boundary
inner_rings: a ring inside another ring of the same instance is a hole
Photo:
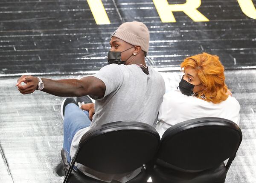
[[[160,19],[164,23],[176,22],[172,11],[183,11],[195,22],[208,22],[209,19],[197,9],[201,5],[201,0],[186,0],[184,4],[169,4],[167,0],[153,0]]]

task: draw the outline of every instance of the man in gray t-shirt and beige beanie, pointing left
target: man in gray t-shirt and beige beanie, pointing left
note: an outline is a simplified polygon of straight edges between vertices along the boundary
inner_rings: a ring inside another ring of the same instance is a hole
[[[113,32],[108,63],[97,74],[80,80],[50,80],[21,76],[17,86],[22,94],[35,89],[62,97],[93,96],[95,114],[90,123],[87,111],[82,111],[73,100],[63,103],[64,150],[73,157],[78,143],[88,129],[114,121],[131,120],[155,125],[165,92],[163,77],[145,64],[149,31],[140,22],[123,23]],[[26,85],[21,85],[24,82]],[[90,158],[90,157],[89,157]],[[140,173],[140,169],[126,174],[109,175],[95,172],[77,164],[87,176],[111,182],[125,183]]]

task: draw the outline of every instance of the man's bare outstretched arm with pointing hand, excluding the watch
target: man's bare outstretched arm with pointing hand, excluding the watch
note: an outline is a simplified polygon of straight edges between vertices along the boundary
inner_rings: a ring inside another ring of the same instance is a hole
[[[44,83],[43,92],[53,94],[60,97],[81,97],[84,95],[94,95],[99,98],[104,97],[106,86],[102,80],[93,77],[83,77],[80,80],[66,79],[66,80],[51,80],[42,78]],[[20,83],[26,83],[21,85]],[[21,76],[16,86],[22,94],[33,93],[38,88],[39,79],[34,76]]]

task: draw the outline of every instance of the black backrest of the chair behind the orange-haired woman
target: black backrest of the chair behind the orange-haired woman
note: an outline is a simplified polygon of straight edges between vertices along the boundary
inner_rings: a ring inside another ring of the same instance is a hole
[[[230,120],[202,117],[178,123],[163,134],[157,162],[180,171],[203,171],[229,158],[229,168],[242,140]],[[164,163],[163,163],[164,162]]]

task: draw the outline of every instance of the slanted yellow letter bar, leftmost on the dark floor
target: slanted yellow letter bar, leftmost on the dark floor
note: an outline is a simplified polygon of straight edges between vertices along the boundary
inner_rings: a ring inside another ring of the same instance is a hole
[[[96,21],[96,24],[110,24],[108,14],[106,13],[101,0],[87,0],[87,2],[90,6],[90,10],[93,13],[93,17]]]

